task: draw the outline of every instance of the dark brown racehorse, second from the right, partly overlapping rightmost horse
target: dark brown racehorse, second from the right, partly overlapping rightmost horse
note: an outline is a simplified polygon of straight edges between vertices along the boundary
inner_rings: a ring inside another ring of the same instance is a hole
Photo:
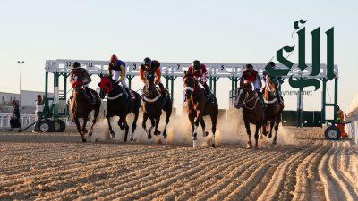
[[[251,148],[251,130],[250,123],[256,126],[255,130],[255,148],[259,148],[259,130],[264,121],[264,109],[260,105],[260,97],[252,90],[251,84],[243,84],[237,90],[234,107],[243,108],[243,121],[245,123],[246,133],[249,136],[247,148]]]

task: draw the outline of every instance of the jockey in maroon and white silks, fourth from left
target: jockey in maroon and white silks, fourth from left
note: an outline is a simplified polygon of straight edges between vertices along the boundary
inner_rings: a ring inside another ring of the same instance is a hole
[[[202,87],[205,88],[205,94],[207,96],[211,96],[210,88],[207,85],[207,80],[208,80],[207,67],[204,64],[201,64],[200,61],[195,60],[194,62],[192,62],[192,65],[189,66],[188,72],[192,73],[196,80],[199,80]]]

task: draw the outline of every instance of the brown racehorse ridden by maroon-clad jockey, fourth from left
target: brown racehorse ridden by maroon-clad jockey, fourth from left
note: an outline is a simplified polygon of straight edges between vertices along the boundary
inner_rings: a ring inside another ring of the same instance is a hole
[[[217,98],[210,103],[204,94],[204,89],[200,87],[199,81],[195,80],[192,73],[184,71],[184,90],[187,101],[186,111],[188,112],[189,121],[192,124],[192,146],[196,146],[197,129],[199,123],[202,128],[202,135],[207,137],[209,132],[205,130],[204,116],[209,115],[212,123],[211,131],[213,134],[211,146],[215,147],[215,132],[217,130],[218,105]],[[196,118],[196,119],[195,119]]]

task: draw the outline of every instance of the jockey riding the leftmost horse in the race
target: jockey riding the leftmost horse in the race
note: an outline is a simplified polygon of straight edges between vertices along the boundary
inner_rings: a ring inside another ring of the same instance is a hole
[[[90,82],[92,81],[92,79],[90,78],[89,72],[86,69],[81,68],[81,64],[78,62],[74,62],[72,65],[70,81],[72,84],[72,88],[77,88],[77,87],[83,86],[83,88],[86,90],[86,94],[89,98],[90,104],[92,104],[92,105],[96,104],[96,100],[88,86],[90,84]],[[70,97],[70,99],[72,99],[72,98],[73,98],[73,96]]]

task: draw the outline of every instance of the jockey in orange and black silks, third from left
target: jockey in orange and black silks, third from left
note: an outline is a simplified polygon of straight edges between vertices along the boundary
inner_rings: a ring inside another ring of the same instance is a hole
[[[149,57],[145,58],[143,63],[141,64],[141,70],[140,70],[140,76],[141,80],[145,83],[145,72],[151,71],[156,74],[156,80],[154,80],[155,85],[158,85],[160,88],[160,93],[162,96],[166,95],[166,88],[164,88],[164,85],[160,82],[160,78],[162,76],[162,72],[160,71],[160,63],[157,60],[151,60]]]

